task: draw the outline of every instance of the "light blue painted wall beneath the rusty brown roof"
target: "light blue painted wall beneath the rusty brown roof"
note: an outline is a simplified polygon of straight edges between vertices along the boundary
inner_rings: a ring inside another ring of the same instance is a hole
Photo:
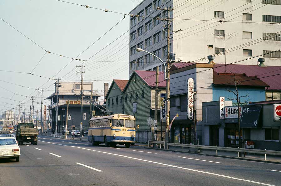
[[[228,98],[234,98],[235,95],[232,92],[228,92],[227,89],[235,92],[235,87],[226,87],[226,86],[213,86],[213,101],[218,101],[219,97],[225,97],[225,100],[231,101]],[[265,101],[265,88],[259,87],[239,87],[238,88],[239,95],[245,96],[249,93],[248,98],[241,98],[241,103],[244,100],[248,100],[251,102],[256,101]],[[244,100],[243,100],[244,99]],[[232,100],[235,102],[235,100]]]

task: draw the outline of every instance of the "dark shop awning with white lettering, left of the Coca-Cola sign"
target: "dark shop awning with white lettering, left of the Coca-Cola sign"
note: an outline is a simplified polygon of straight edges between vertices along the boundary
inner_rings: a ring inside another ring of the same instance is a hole
[[[240,120],[241,128],[257,128],[259,126],[261,108],[261,105],[243,106]]]

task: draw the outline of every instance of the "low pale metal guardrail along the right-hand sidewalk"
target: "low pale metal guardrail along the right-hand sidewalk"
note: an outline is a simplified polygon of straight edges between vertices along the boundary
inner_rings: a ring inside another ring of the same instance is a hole
[[[150,146],[151,144],[164,144],[164,141],[148,141],[148,145]],[[178,144],[178,143],[168,143],[168,149],[169,146],[175,146],[175,147],[181,147],[183,148],[195,148],[197,149],[197,153],[199,152],[199,149],[208,149],[208,150],[215,150],[216,155],[218,155],[218,150],[221,151],[230,151],[230,152],[237,152],[237,155],[239,157],[239,152],[244,152],[244,153],[253,153],[253,154],[264,154],[264,160],[266,160],[266,154],[268,155],[278,155],[281,156],[281,151],[276,151],[276,150],[261,150],[261,149],[242,149],[242,148],[232,148],[232,147],[217,147],[217,146],[205,146],[205,145],[191,145],[191,144]]]

